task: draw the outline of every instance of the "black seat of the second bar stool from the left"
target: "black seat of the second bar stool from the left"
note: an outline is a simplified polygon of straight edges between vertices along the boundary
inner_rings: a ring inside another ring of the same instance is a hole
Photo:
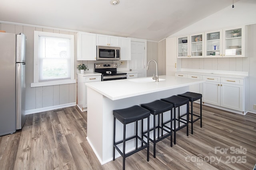
[[[163,102],[161,100],[156,100],[147,104],[141,104],[141,107],[148,109],[153,115],[164,113],[173,108],[172,104]]]

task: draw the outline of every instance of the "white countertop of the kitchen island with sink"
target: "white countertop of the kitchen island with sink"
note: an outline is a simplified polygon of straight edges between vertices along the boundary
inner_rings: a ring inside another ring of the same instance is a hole
[[[175,76],[159,76],[159,82],[155,82],[154,80],[152,80],[152,82],[143,82],[144,80],[151,81],[151,79],[152,77],[146,77],[146,79],[143,77],[103,82],[88,82],[86,83],[86,86],[111,100],[119,100],[205,82],[205,80]],[[160,81],[161,79],[164,80]]]

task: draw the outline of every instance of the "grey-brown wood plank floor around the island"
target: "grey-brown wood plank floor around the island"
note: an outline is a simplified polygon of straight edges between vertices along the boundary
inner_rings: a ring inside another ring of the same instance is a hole
[[[194,110],[198,113],[198,104]],[[86,140],[87,114],[67,107],[27,115],[22,130],[0,137],[2,170],[116,170],[122,158],[101,165]],[[186,128],[156,144],[150,161],[146,149],[126,158],[127,170],[252,170],[256,164],[256,114],[239,115],[203,106],[203,126],[194,123],[194,134]],[[226,150],[226,151],[225,151]]]

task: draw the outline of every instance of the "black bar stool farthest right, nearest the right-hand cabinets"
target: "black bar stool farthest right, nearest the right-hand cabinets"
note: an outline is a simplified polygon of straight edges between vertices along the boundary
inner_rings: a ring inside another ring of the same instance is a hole
[[[194,93],[194,92],[186,92],[183,94],[178,94],[178,96],[188,98],[191,103],[191,120],[189,123],[191,123],[191,134],[193,134],[193,123],[200,119],[200,127],[202,127],[202,94]],[[196,115],[193,113],[193,102],[200,99],[200,115]],[[193,120],[193,115],[197,118]],[[182,119],[182,118],[181,118]]]

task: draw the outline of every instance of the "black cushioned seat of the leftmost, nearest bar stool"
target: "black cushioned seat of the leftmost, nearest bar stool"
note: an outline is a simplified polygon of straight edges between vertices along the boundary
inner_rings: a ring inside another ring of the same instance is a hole
[[[144,119],[150,115],[150,111],[140,106],[132,106],[125,109],[113,110],[114,117],[123,124]]]

